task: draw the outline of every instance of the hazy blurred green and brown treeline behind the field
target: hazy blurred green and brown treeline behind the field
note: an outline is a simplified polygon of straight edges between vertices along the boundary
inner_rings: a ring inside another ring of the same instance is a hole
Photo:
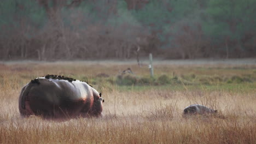
[[[256,56],[255,0],[2,0],[0,59]]]

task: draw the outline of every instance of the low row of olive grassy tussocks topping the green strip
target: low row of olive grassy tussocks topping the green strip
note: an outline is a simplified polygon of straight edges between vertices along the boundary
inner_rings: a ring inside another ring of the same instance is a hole
[[[256,78],[252,75],[244,76],[205,76],[205,75],[181,75],[181,77],[170,77],[166,74],[160,75],[159,77],[143,76],[139,77],[132,74],[117,75],[115,77],[83,77],[84,81],[88,81],[92,85],[96,83],[109,83],[112,85],[121,86],[132,86],[132,85],[214,85],[216,83],[242,83],[242,82],[252,82]]]

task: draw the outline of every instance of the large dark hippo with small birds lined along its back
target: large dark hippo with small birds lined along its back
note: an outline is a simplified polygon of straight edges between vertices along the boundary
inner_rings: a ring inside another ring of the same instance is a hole
[[[23,117],[100,117],[103,102],[101,93],[86,82],[60,75],[46,75],[31,80],[22,88],[19,111]]]

